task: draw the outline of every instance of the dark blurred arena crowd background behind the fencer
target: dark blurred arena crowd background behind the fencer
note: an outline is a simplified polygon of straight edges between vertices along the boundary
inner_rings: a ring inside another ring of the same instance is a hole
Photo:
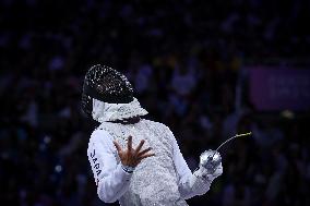
[[[102,63],[128,75],[192,170],[252,131],[190,205],[310,205],[309,11],[308,0],[1,0],[0,204],[105,205],[80,109],[83,76]]]

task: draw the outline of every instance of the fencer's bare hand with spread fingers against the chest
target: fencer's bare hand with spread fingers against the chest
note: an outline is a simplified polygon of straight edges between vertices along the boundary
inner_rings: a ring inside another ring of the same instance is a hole
[[[144,140],[142,140],[140,142],[140,144],[136,146],[136,148],[132,148],[132,136],[128,137],[128,147],[127,149],[122,149],[120,147],[120,145],[114,141],[114,144],[117,148],[120,161],[123,166],[130,166],[130,167],[136,167],[142,159],[145,159],[147,157],[152,157],[155,154],[154,153],[150,153],[152,150],[151,147],[141,150],[143,144],[144,144]]]

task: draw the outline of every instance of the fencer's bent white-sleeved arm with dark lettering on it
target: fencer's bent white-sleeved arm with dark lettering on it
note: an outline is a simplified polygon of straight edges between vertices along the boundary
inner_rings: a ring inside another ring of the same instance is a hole
[[[132,173],[126,172],[121,163],[117,163],[117,149],[112,137],[104,130],[93,132],[87,149],[97,194],[105,203],[114,203],[128,190]]]

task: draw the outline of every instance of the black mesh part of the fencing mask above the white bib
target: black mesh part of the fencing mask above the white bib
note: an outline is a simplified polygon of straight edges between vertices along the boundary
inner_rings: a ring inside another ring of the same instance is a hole
[[[109,104],[128,104],[133,100],[133,88],[127,77],[106,65],[92,66],[84,78],[82,109],[92,116],[93,98]]]

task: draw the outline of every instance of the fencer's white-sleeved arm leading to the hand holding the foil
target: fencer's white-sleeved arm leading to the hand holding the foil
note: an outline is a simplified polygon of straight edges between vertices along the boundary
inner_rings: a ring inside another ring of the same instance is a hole
[[[193,173],[189,169],[176,138],[174,137],[174,161],[179,174],[179,192],[182,198],[188,199],[195,195],[203,195],[210,190],[215,177],[202,177],[201,170]],[[219,170],[222,170],[222,165]]]

